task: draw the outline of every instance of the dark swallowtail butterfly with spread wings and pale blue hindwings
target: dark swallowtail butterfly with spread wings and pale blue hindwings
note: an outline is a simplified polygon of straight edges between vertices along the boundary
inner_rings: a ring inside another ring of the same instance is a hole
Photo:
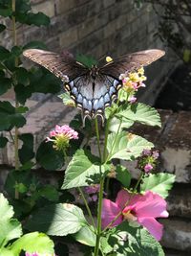
[[[122,87],[119,75],[138,70],[161,58],[164,51],[152,49],[127,54],[103,66],[91,68],[70,56],[59,56],[53,52],[38,49],[24,51],[23,55],[44,66],[64,82],[64,88],[70,93],[76,106],[82,109],[84,118],[103,118],[104,109],[117,98]]]

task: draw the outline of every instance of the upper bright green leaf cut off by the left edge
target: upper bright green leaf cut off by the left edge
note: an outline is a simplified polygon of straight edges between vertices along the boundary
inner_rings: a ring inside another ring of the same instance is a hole
[[[12,239],[19,238],[22,235],[22,229],[19,221],[11,219],[13,209],[3,194],[0,194],[0,205],[0,244],[3,247]]]

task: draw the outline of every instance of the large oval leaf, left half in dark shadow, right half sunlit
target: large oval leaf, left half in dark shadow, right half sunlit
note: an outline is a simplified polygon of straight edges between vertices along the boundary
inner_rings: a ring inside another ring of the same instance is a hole
[[[87,225],[87,221],[79,207],[70,203],[57,203],[34,213],[26,228],[52,236],[67,236],[76,233],[84,225]]]

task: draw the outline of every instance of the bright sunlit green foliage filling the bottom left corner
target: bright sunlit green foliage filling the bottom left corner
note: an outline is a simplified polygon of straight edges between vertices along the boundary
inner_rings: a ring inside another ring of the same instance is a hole
[[[0,254],[19,256],[21,251],[53,253],[53,241],[45,234],[33,232],[22,236],[21,223],[13,219],[13,209],[8,199],[0,194]],[[16,239],[16,240],[15,240]],[[12,242],[14,240],[14,242]]]

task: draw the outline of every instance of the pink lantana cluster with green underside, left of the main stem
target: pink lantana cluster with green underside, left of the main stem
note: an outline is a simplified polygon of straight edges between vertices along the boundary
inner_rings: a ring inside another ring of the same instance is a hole
[[[55,126],[50,131],[50,136],[47,137],[46,141],[53,141],[53,148],[57,151],[65,151],[69,147],[71,139],[78,139],[78,132],[69,126]]]

